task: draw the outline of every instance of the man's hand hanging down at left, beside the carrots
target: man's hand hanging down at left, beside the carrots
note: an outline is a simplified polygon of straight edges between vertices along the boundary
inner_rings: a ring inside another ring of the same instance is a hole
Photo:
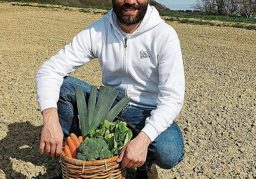
[[[52,158],[60,156],[62,151],[63,132],[60,127],[56,108],[49,108],[42,111],[44,126],[41,132],[40,153],[45,151]]]

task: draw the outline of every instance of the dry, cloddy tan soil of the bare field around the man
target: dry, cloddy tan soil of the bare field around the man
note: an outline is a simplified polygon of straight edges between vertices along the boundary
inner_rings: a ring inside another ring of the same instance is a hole
[[[43,62],[103,16],[89,11],[0,3],[0,179],[60,174],[59,158],[39,154],[43,121],[34,77]],[[186,153],[173,169],[159,169],[160,179],[255,179],[256,31],[168,23],[184,57],[186,95],[176,122]],[[101,85],[97,60],[72,76]]]

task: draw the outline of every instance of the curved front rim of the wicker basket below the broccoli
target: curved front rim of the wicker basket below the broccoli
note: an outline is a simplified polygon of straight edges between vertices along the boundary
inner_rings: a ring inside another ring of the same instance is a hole
[[[79,160],[79,159],[74,159],[68,155],[62,150],[62,153],[60,155],[61,160],[65,160],[66,162],[73,164],[73,165],[80,165],[80,166],[100,166],[100,165],[105,165],[106,163],[111,163],[114,162],[118,159],[119,155],[116,155],[114,157],[110,157],[107,159],[102,159],[102,160],[94,160],[94,161],[84,161],[84,160]]]

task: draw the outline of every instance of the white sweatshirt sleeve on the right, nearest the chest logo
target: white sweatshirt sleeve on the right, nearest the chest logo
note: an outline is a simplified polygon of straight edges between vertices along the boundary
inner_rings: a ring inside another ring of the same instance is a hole
[[[142,129],[151,141],[170,127],[180,113],[185,93],[184,67],[178,36],[160,48],[162,53],[158,64],[159,103],[146,119]]]

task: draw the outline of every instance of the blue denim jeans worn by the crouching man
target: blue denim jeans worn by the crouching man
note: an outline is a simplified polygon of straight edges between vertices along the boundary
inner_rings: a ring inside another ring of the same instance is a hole
[[[85,98],[88,101],[91,85],[86,82],[68,76],[64,78],[64,82],[60,88],[60,99],[57,105],[64,140],[70,133],[75,133],[78,136],[81,135],[74,90],[76,87],[83,89]],[[114,101],[113,105],[116,103],[117,101]],[[118,114],[117,119],[127,123],[127,126],[132,130],[134,138],[144,127],[146,118],[150,116],[150,111],[126,105]],[[155,163],[163,169],[171,169],[182,161],[183,155],[184,143],[182,133],[174,121],[168,129],[150,143],[148,146],[147,161],[149,163]]]

